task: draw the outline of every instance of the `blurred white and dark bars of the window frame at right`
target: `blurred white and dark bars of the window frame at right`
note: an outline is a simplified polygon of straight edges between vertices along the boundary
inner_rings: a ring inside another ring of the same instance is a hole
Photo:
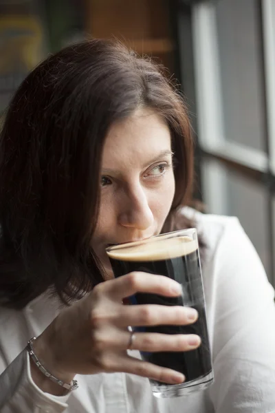
[[[219,56],[217,48],[217,32],[214,24],[214,7],[220,0],[180,0],[177,2],[177,53],[178,61],[188,60],[180,67],[179,81],[183,85],[188,103],[191,101],[193,129],[196,134],[196,165],[200,174],[200,182],[205,176],[204,160],[214,160],[225,169],[237,171],[242,176],[261,184],[267,191],[267,209],[265,211],[270,232],[267,242],[270,244],[271,282],[275,286],[275,257],[272,253],[275,245],[275,3],[274,0],[258,0],[257,8],[260,19],[261,62],[264,74],[264,129],[263,140],[265,151],[245,147],[236,142],[225,140],[221,125],[221,85],[219,79]],[[180,26],[188,21],[192,47],[182,36]],[[175,23],[175,22],[174,22]],[[190,61],[192,60],[192,64]],[[201,70],[203,67],[203,70]],[[192,73],[191,73],[192,72]],[[193,85],[188,80],[194,79]],[[216,93],[212,93],[215,91]],[[217,93],[218,92],[218,93]],[[210,97],[209,97],[210,96]],[[207,101],[207,105],[206,105]],[[218,120],[218,121],[217,121]],[[272,140],[272,136],[274,137]],[[212,164],[213,165],[213,164]],[[218,167],[219,169],[219,167]],[[210,171],[211,173],[211,171]],[[199,193],[208,205],[215,203],[215,211],[224,210],[226,194],[225,174],[212,171],[212,178],[201,182]],[[219,191],[217,191],[219,187]],[[205,194],[203,194],[203,189]]]

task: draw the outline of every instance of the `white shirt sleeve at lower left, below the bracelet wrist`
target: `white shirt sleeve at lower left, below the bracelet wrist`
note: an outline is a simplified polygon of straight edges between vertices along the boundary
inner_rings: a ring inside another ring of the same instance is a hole
[[[32,380],[30,358],[23,350],[0,376],[1,413],[60,413],[67,409],[69,395],[53,396],[39,389]]]

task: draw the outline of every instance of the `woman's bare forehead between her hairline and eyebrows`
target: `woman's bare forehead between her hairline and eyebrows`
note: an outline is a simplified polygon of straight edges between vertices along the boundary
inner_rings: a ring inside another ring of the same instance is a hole
[[[157,152],[170,149],[170,130],[165,121],[149,109],[113,124],[107,134],[102,153],[103,167],[110,162],[146,162]]]

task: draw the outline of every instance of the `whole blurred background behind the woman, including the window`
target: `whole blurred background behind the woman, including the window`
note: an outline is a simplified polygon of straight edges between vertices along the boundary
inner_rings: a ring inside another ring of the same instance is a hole
[[[121,39],[177,78],[198,205],[239,217],[275,286],[275,0],[0,0],[0,125],[32,67],[85,37]]]

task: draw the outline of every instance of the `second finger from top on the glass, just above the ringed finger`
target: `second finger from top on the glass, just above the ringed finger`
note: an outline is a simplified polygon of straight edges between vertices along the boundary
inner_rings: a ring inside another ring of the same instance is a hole
[[[140,306],[123,306],[115,317],[115,325],[125,326],[186,326],[198,318],[195,308],[184,306],[158,306],[157,304],[140,304]]]

